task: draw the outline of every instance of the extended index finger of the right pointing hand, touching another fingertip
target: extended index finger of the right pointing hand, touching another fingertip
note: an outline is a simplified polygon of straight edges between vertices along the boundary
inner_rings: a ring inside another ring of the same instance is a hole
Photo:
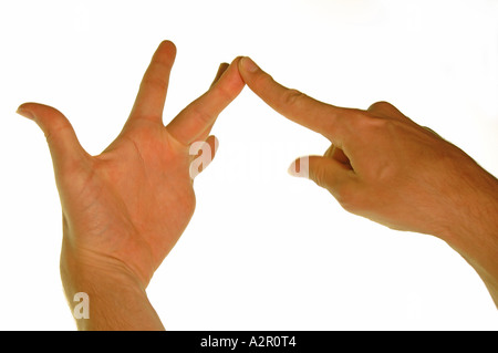
[[[326,137],[335,135],[345,108],[284,87],[247,56],[240,60],[239,71],[247,85],[278,113]]]

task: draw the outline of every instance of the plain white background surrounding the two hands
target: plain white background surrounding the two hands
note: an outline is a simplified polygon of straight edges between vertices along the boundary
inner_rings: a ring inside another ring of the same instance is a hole
[[[165,123],[250,55],[328,103],[385,100],[498,175],[498,1],[2,1],[0,329],[74,330],[59,277],[61,211],[39,127],[53,105],[98,154],[157,44],[178,49]],[[437,238],[345,212],[292,178],[322,137],[246,89],[219,117],[197,209],[148,294],[169,330],[496,330],[475,271]]]

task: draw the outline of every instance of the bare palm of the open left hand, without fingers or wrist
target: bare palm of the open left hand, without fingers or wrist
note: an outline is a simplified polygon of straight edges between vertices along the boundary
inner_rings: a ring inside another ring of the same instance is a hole
[[[71,224],[80,251],[118,259],[148,278],[194,212],[186,149],[164,126],[147,126],[89,157],[83,165],[92,167],[60,187],[64,217],[77,218]]]

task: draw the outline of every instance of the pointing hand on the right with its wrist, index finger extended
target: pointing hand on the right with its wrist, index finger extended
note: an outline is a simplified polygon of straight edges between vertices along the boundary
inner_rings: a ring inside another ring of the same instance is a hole
[[[433,235],[458,251],[498,305],[498,180],[455,145],[377,102],[366,111],[325,104],[277,83],[249,58],[246,84],[277,112],[331,142],[308,173],[350,212]]]

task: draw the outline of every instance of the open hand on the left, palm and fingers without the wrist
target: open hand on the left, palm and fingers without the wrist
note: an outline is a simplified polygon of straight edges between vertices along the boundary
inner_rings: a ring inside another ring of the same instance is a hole
[[[243,86],[237,66],[225,66],[226,74],[165,127],[174,56],[172,43],[159,45],[122,133],[97,156],[83,150],[59,112],[21,106],[38,110],[34,120],[48,136],[64,218],[63,255],[98,266],[117,261],[144,285],[194,214],[189,146],[205,141],[214,147],[210,128]]]

